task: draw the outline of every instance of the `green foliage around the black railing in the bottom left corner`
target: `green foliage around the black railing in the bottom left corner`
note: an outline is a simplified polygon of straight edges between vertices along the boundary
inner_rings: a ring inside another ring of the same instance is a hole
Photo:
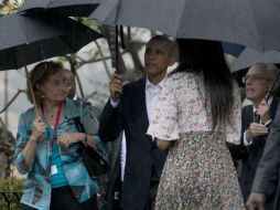
[[[24,178],[12,178],[9,177],[7,179],[0,180],[0,192],[18,192],[19,198],[21,198],[21,193],[23,191],[25,183]],[[8,195],[9,200],[11,200],[11,210],[19,209],[19,200],[17,197],[12,197]],[[4,197],[0,197],[0,209],[8,209],[8,203],[4,200]]]

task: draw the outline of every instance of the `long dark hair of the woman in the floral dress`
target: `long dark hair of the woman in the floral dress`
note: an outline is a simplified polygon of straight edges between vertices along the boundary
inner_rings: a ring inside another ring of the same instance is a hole
[[[228,120],[234,94],[233,78],[220,42],[177,39],[180,64],[175,72],[195,72],[203,76],[211,99],[213,129]],[[206,98],[208,99],[208,98]]]

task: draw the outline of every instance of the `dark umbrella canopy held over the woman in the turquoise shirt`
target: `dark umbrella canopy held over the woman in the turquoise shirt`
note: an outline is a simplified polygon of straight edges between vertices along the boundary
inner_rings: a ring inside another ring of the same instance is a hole
[[[51,12],[30,15],[8,14],[0,18],[0,71],[53,56],[77,52],[101,35],[82,23]]]

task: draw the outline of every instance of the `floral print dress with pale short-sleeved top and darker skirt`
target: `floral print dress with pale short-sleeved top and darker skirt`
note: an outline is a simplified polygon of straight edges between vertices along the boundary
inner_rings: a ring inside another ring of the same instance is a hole
[[[168,77],[148,134],[173,140],[161,176],[159,210],[245,209],[226,141],[239,144],[241,102],[236,84],[231,116],[212,132],[213,119],[205,87],[195,73]]]

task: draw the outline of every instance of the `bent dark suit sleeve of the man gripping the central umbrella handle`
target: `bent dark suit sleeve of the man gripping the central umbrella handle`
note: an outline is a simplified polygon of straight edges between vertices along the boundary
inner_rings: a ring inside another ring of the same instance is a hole
[[[111,141],[118,138],[122,130],[120,106],[112,107],[110,99],[106,103],[99,120],[99,137],[103,141]]]

